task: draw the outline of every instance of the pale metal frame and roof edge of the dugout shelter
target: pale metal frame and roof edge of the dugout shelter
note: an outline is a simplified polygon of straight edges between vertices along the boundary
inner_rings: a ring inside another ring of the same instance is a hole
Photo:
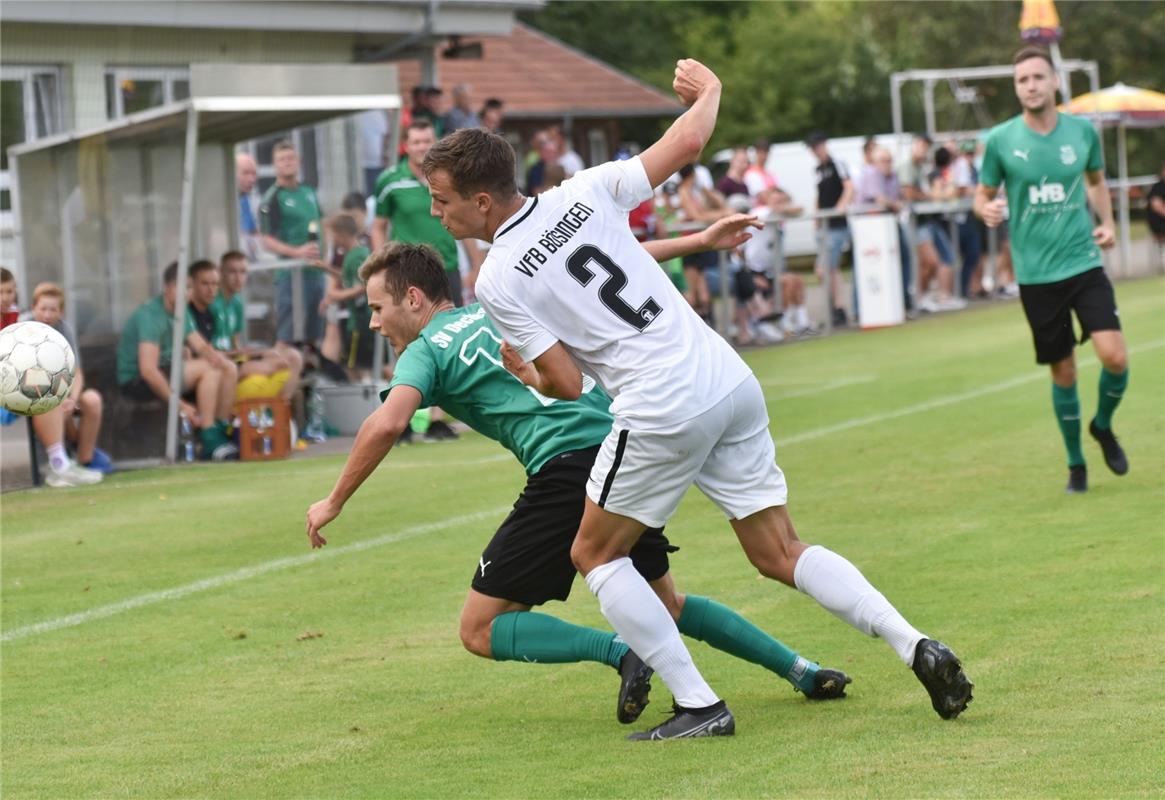
[[[170,402],[167,416],[165,459],[174,462],[178,448],[178,401],[182,392],[183,332],[186,303],[182,286],[195,242],[195,187],[199,170],[225,170],[226,213],[228,241],[238,242],[239,196],[234,183],[234,147],[238,142],[270,136],[283,130],[315,125],[326,120],[368,109],[400,109],[396,68],[391,64],[191,64],[191,97],[158,108],[151,108],[110,125],[84,132],[49,136],[9,148],[12,198],[16,233],[16,261],[21,276],[28,274],[21,238],[20,160],[52,148],[68,148],[89,142],[114,142],[146,148],[150,142],[174,137],[184,132],[182,165],[181,211],[178,225],[178,299],[174,310],[172,349],[170,363]],[[248,90],[261,87],[261,94]],[[199,146],[217,146],[221,153],[218,164],[203,165],[198,160]],[[221,176],[220,176],[221,177]],[[156,264],[158,284],[164,264]],[[288,262],[287,266],[294,266]],[[71,291],[66,276],[65,292]],[[298,288],[299,282],[292,285]]]

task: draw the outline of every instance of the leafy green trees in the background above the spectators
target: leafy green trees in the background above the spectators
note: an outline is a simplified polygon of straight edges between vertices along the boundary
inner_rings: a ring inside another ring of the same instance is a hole
[[[1096,61],[1104,86],[1165,91],[1165,3],[1060,2],[1066,58]],[[1008,64],[1022,44],[1019,2],[578,2],[552,0],[531,24],[661,89],[677,57],[712,65],[726,95],[713,147],[887,132],[890,75]],[[976,82],[986,120],[935,92],[942,129],[974,129],[1017,112],[1009,80]],[[1073,91],[1087,91],[1076,73]],[[922,91],[904,93],[908,129],[923,127]],[[1129,140],[1132,171],[1156,172],[1163,139]]]

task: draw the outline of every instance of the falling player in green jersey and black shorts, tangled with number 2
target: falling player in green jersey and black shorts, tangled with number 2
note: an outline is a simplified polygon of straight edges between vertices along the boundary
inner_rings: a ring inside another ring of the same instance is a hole
[[[659,257],[693,247],[726,247],[747,238],[755,218],[737,214],[699,235],[649,242]],[[670,254],[670,255],[669,255]],[[356,488],[391,449],[412,413],[439,403],[483,436],[500,441],[527,469],[528,482],[478,561],[461,613],[461,640],[495,660],[609,664],[621,673],[617,718],[633,722],[647,705],[651,670],[614,633],[532,613],[565,600],[576,569],[570,550],[582,517],[587,476],[612,425],[610,398],[586,383],[574,402],[543,397],[502,366],[502,339],[476,304],[454,307],[439,256],[424,246],[391,245],[361,268],[372,328],[400,353],[387,401],[361,426],[332,493],[308,511],[313,547]],[[682,595],[669,572],[673,551],[662,529],[631,551],[637,569],[671,611],[679,630],[760,664],[813,699],[840,698],[849,678],[789,650],[732,609]]]

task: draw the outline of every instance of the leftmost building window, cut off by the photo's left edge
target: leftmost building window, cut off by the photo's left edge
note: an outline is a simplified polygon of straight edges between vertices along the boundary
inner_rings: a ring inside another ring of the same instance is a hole
[[[8,148],[63,129],[61,70],[0,66],[0,228],[12,228]]]

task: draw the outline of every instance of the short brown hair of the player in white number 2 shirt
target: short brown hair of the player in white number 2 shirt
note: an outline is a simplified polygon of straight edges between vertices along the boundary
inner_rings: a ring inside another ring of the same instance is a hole
[[[499,200],[517,194],[514,180],[514,148],[497,134],[480,128],[461,128],[433,144],[422,169],[425,177],[445,170],[458,194],[468,198],[487,192]]]

